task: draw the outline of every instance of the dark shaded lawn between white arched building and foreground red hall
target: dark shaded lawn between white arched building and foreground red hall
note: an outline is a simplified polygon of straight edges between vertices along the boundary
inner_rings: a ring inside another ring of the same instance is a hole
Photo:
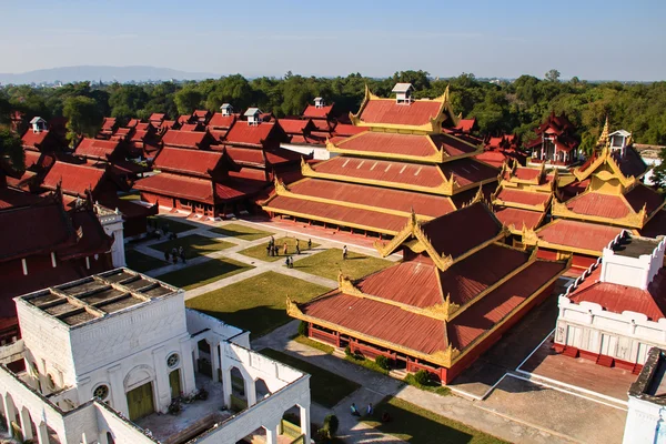
[[[324,407],[333,408],[339,402],[361,387],[361,385],[353,381],[345,380],[335,373],[331,373],[327,370],[292,355],[272,349],[263,349],[260,353],[309,373],[311,375],[310,394],[312,395],[312,401]]]

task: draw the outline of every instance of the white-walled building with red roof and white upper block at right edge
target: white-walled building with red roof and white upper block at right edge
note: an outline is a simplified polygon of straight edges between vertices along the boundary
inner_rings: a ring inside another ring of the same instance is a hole
[[[555,350],[638,372],[666,346],[666,239],[623,232],[559,296]]]

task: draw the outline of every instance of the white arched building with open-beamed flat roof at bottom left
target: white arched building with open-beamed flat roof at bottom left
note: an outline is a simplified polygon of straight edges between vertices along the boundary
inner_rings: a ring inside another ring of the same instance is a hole
[[[10,433],[39,443],[262,435],[274,444],[295,411],[300,442],[310,443],[310,376],[253,352],[249,332],[185,309],[183,296],[117,269],[17,297],[22,340],[0,347]]]

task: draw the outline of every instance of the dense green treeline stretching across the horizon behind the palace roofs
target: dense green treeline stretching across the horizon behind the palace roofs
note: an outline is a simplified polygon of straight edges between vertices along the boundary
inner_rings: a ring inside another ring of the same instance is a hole
[[[623,84],[588,83],[573,78],[559,81],[555,70],[546,79],[523,75],[511,83],[494,84],[463,73],[453,79],[430,78],[424,71],[396,72],[386,79],[364,78],[359,73],[345,78],[314,78],[286,73],[282,79],[229,75],[200,82],[159,84],[105,84],[82,82],[56,89],[28,85],[0,90],[0,123],[9,110],[23,111],[28,118],[41,115],[69,119],[72,139],[93,134],[102,117],[125,120],[148,118],[165,112],[171,118],[193,109],[215,111],[223,102],[236,110],[256,105],[276,117],[297,115],[314,97],[335,102],[340,113],[356,111],[365,84],[377,95],[390,95],[395,82],[411,82],[417,98],[436,97],[451,87],[455,112],[475,117],[483,134],[516,132],[524,140],[551,111],[566,112],[578,128],[583,148],[596,140],[606,115],[612,129],[633,131],[638,143],[666,144],[666,82]]]

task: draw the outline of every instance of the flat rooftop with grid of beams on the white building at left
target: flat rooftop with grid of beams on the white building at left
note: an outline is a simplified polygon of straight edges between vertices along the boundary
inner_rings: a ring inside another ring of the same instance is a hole
[[[178,292],[135,271],[115,269],[18,299],[75,326]]]

